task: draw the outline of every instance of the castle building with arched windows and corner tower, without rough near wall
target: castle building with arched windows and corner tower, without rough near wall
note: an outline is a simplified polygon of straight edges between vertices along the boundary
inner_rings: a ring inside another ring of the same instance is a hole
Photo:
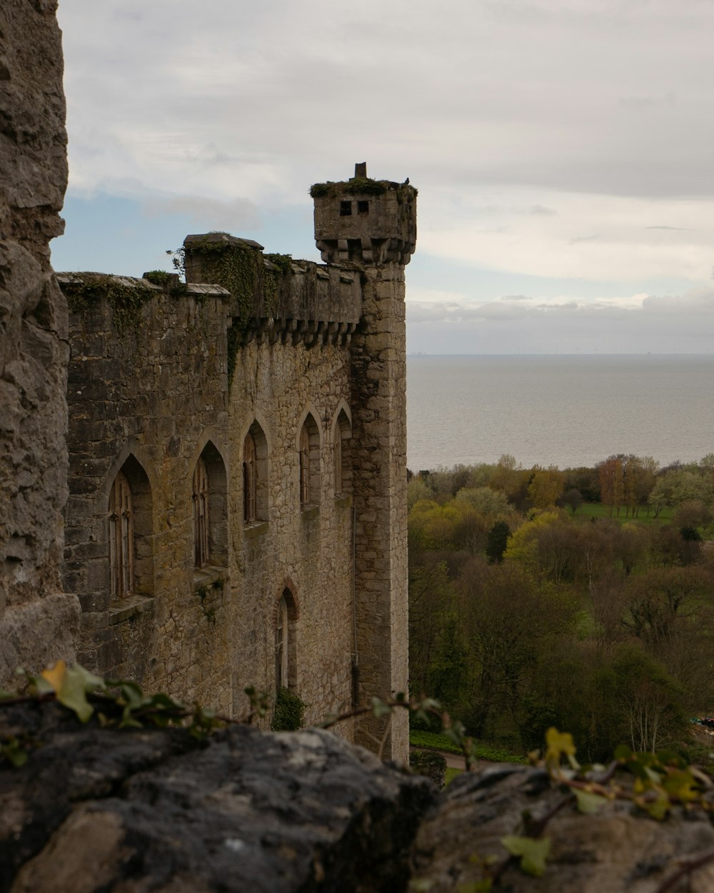
[[[325,265],[210,233],[186,239],[186,285],[59,276],[71,308],[64,583],[82,605],[79,660],[227,713],[246,686],[283,684],[307,722],[407,689],[403,264],[416,233],[407,185],[358,170],[312,195]],[[118,597],[120,472],[133,580]],[[344,733],[369,744],[381,731]],[[407,747],[400,716],[387,754]]]

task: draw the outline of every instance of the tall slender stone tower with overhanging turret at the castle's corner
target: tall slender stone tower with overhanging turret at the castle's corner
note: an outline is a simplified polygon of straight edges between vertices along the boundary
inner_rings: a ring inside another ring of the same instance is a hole
[[[369,702],[408,684],[404,266],[416,242],[417,190],[408,179],[368,179],[357,164],[352,179],[316,184],[311,196],[322,260],[363,271],[352,341],[355,663],[359,699]],[[359,743],[374,747],[379,725]],[[406,761],[408,752],[408,716],[399,711],[385,756]]]

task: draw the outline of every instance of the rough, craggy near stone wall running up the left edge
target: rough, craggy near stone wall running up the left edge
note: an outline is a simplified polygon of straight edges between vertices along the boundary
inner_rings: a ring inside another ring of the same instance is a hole
[[[67,313],[49,261],[67,183],[62,47],[51,0],[0,5],[0,684],[71,658],[60,588]]]

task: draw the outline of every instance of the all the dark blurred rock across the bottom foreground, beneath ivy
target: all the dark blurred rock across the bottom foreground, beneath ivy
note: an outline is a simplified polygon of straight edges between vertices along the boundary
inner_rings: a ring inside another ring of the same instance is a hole
[[[80,726],[36,703],[0,708],[0,744],[13,736],[42,746],[20,769],[0,762],[0,893],[470,893],[491,855],[505,866],[494,891],[656,893],[714,853],[701,812],[655,822],[626,804],[566,805],[530,877],[501,839],[562,799],[544,772],[492,765],[438,794],[325,731],[236,726],[202,744]],[[714,890],[714,867],[667,889]]]

